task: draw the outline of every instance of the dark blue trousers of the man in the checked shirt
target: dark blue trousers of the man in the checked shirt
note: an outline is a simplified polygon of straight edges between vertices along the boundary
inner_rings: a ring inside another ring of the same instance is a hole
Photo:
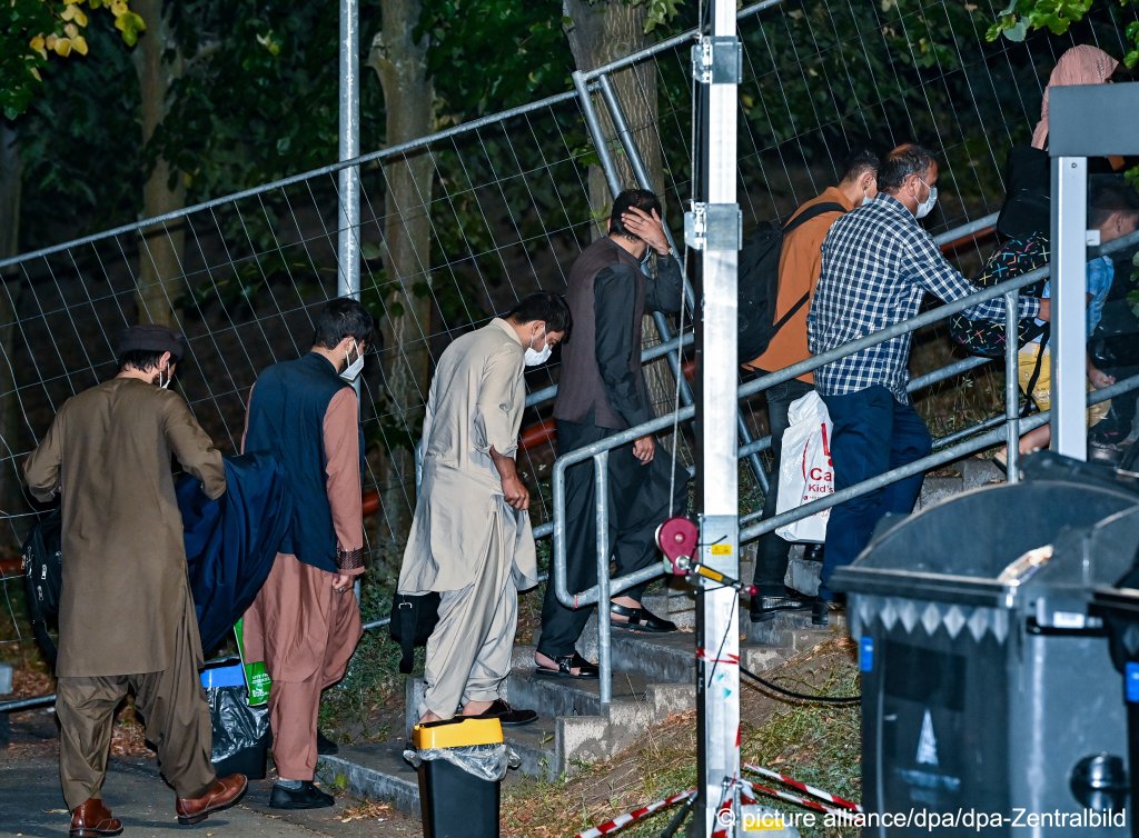
[[[821,395],[821,394],[820,394]],[[823,395],[834,426],[830,460],[835,491],[926,457],[933,450],[929,429],[909,404],[900,404],[885,387],[845,395]],[[870,542],[884,515],[913,510],[924,475],[917,474],[860,498],[831,507],[819,597],[834,599],[828,583],[835,568],[851,564]]]

